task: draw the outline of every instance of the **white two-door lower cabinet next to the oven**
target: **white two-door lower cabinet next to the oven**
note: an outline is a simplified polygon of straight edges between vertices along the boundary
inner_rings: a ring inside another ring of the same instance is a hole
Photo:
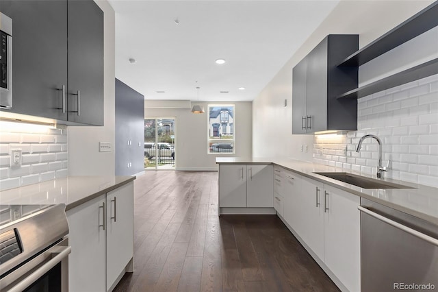
[[[66,214],[72,247],[68,257],[69,291],[111,291],[120,276],[132,269],[133,182]]]

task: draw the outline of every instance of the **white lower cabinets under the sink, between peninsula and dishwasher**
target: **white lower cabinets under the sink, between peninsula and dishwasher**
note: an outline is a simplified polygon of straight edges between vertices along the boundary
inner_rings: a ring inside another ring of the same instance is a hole
[[[283,218],[348,291],[360,291],[360,197],[292,176],[283,191]]]

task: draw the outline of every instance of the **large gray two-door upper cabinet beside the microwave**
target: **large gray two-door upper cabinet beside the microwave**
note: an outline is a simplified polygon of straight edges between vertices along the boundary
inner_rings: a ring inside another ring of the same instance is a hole
[[[92,0],[0,1],[12,19],[12,108],[103,125],[103,12]],[[79,95],[78,95],[79,93]]]

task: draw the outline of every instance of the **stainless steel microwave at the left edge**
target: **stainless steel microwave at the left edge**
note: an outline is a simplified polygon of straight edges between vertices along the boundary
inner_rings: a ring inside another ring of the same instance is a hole
[[[12,19],[1,12],[0,108],[12,108]]]

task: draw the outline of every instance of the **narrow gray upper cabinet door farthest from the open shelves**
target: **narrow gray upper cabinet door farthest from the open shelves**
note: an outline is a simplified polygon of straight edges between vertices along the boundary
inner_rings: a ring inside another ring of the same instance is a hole
[[[307,58],[292,70],[292,134],[306,134]]]

